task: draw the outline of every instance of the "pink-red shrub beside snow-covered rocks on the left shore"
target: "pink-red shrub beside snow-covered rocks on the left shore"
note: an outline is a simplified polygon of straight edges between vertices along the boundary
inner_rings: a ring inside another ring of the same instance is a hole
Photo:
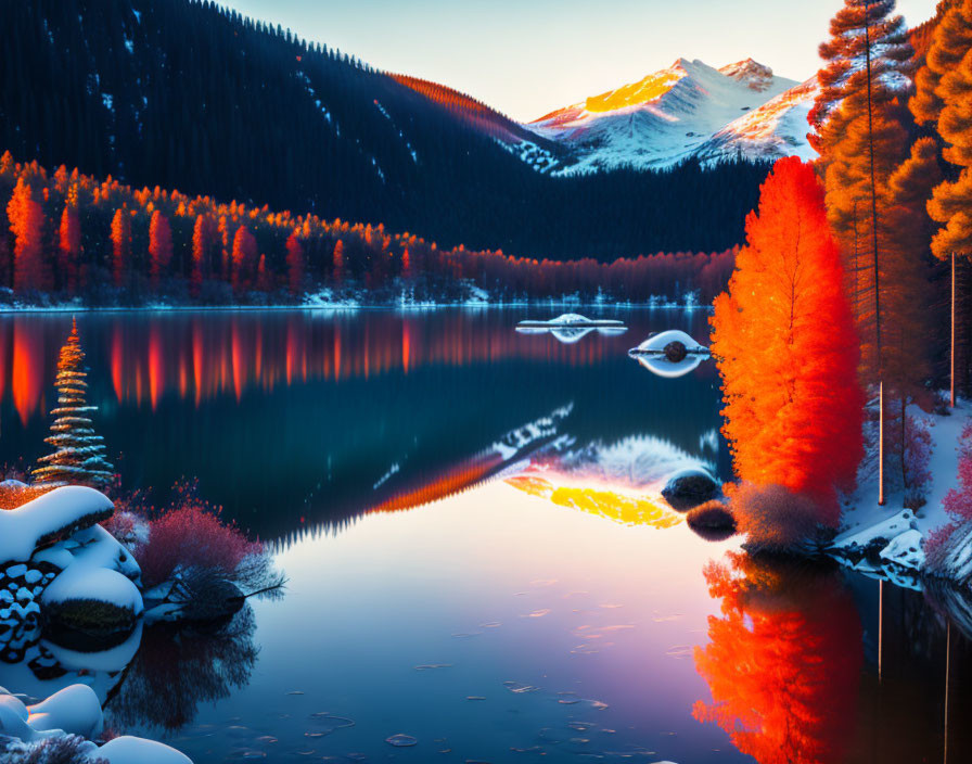
[[[177,569],[206,570],[228,580],[239,577],[247,558],[260,558],[264,547],[234,524],[225,524],[219,509],[208,506],[194,486],[177,486],[177,499],[149,522],[149,538],[133,550],[145,586],[169,580]]]

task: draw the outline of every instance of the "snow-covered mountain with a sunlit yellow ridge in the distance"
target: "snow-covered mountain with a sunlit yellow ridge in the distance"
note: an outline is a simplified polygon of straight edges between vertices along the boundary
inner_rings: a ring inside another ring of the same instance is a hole
[[[529,123],[574,154],[563,171],[669,167],[742,154],[809,156],[806,112],[815,80],[797,84],[752,59],[720,69],[679,59],[648,75]],[[803,125],[801,126],[801,119]]]

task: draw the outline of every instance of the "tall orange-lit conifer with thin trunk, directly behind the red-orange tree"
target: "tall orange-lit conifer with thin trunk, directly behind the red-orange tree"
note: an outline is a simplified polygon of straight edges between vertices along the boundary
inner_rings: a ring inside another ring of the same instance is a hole
[[[893,107],[910,87],[912,49],[895,0],[844,0],[820,46],[827,65],[810,112],[814,144],[827,189],[830,224],[845,258],[852,258],[862,372],[878,387],[878,504],[884,504],[884,342],[886,305],[881,280],[888,225],[887,183],[907,152],[907,133]],[[868,294],[871,300],[864,298]]]

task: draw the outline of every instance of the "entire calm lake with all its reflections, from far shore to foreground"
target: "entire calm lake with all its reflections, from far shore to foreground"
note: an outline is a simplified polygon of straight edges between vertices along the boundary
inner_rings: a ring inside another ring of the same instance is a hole
[[[934,598],[884,586],[879,662],[875,581],[754,563],[658,499],[731,478],[718,374],[626,352],[707,344],[707,314],[514,330],[558,313],[79,315],[125,487],[197,479],[289,583],[220,628],[42,641],[0,686],[91,684],[197,764],[972,761],[972,652]],[[0,316],[0,462],[46,453],[69,326]]]

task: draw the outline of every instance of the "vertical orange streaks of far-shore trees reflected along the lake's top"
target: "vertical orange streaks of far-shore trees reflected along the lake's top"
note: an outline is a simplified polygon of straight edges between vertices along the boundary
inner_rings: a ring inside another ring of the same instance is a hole
[[[0,326],[0,393],[12,389],[24,423],[40,408],[61,329],[14,319]],[[623,340],[621,341],[623,342]],[[587,366],[610,356],[606,341],[564,346],[524,338],[458,314],[455,320],[372,313],[353,322],[305,315],[266,321],[246,315],[225,320],[168,317],[149,327],[116,324],[106,352],[112,387],[123,403],[157,406],[166,395],[202,403],[247,390],[272,391],[314,380],[413,373],[425,366],[461,367],[510,358]]]

